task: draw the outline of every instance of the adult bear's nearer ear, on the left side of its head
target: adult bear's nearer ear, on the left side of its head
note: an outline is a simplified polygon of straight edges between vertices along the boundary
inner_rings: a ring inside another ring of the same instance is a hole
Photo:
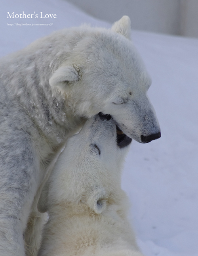
[[[80,69],[76,64],[72,66],[62,66],[53,73],[49,79],[49,84],[52,87],[57,86],[59,89],[63,89],[68,83],[80,80],[80,77]]]

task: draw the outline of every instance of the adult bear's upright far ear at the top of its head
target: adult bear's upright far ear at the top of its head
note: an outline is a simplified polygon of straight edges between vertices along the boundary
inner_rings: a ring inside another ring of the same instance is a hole
[[[131,39],[131,20],[128,16],[123,16],[119,21],[116,21],[111,28],[112,31]]]

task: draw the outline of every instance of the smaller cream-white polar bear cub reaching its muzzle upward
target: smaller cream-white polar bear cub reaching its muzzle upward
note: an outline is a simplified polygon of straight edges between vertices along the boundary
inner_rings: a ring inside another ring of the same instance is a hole
[[[38,202],[49,214],[38,256],[143,256],[121,189],[131,139],[117,133],[112,118],[96,115],[67,141]]]

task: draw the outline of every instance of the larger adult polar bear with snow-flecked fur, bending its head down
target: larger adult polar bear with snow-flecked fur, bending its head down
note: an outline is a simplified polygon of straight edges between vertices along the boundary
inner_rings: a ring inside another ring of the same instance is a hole
[[[1,60],[1,256],[24,256],[25,243],[34,248],[32,231],[25,241],[24,232],[39,221],[34,206],[49,166],[87,118],[110,114],[142,143],[160,137],[150,78],[129,35],[124,16],[111,30],[64,29]]]

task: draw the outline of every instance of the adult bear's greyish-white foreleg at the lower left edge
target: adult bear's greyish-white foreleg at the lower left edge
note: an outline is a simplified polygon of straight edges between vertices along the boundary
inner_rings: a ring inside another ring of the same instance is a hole
[[[42,179],[39,168],[30,134],[23,129],[4,129],[0,138],[1,256],[25,256],[24,231]]]

